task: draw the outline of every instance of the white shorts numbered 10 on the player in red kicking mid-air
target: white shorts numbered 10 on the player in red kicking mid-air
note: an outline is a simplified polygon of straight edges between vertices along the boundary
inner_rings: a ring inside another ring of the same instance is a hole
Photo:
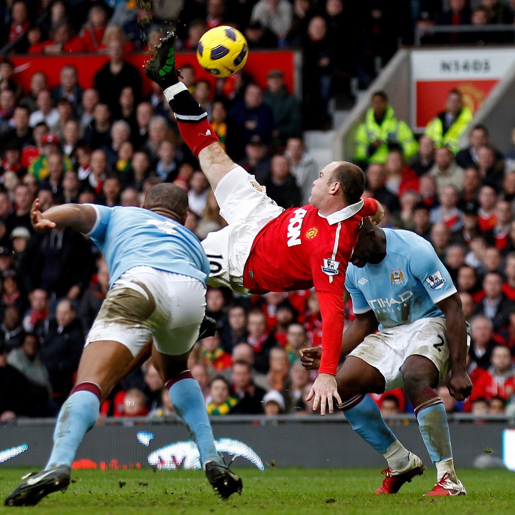
[[[283,211],[253,175],[237,166],[218,183],[214,196],[220,214],[229,224],[210,232],[202,242],[211,264],[208,283],[229,286],[236,293],[245,294],[243,270],[251,252],[254,238],[270,220]]]

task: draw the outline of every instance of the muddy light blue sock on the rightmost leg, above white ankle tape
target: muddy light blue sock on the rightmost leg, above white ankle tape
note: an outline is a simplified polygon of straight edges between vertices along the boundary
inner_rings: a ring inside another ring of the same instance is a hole
[[[451,459],[453,457],[451,434],[443,404],[439,402],[421,409],[417,413],[417,420],[431,461],[436,463]]]

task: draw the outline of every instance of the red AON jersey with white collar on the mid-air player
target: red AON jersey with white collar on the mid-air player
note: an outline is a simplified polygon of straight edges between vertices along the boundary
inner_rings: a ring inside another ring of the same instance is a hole
[[[342,294],[345,271],[364,216],[374,215],[374,199],[361,199],[322,216],[312,205],[290,208],[254,239],[243,285],[251,293],[309,289]]]

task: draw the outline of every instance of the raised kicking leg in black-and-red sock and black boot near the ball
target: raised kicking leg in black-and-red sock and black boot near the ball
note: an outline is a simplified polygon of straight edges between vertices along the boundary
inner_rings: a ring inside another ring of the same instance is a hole
[[[182,139],[198,158],[202,171],[214,190],[220,180],[237,165],[218,143],[218,136],[207,119],[206,111],[186,85],[178,80],[175,39],[174,33],[170,32],[161,39],[156,47],[157,54],[145,66],[145,73],[163,89],[177,119]]]

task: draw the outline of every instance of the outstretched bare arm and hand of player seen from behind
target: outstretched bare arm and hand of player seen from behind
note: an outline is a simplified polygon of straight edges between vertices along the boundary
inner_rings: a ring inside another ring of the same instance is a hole
[[[30,222],[37,232],[71,227],[87,234],[95,225],[96,211],[88,204],[63,204],[41,213],[39,199],[36,199],[30,209]]]

